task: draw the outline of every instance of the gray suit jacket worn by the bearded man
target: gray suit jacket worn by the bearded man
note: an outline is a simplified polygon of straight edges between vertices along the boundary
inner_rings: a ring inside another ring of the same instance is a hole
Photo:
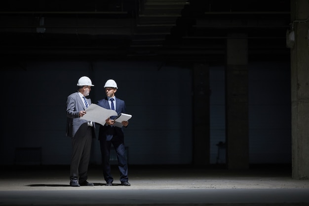
[[[87,98],[86,98],[87,99]],[[91,104],[91,99],[87,99],[88,105]],[[67,129],[66,136],[75,137],[78,134],[83,135],[88,127],[86,120],[79,119],[79,111],[85,110],[84,103],[82,102],[78,92],[72,93],[67,98]],[[92,138],[95,138],[95,124],[92,123]]]

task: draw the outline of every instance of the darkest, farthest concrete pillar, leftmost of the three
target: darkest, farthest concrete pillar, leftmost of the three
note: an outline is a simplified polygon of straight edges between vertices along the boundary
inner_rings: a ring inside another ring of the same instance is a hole
[[[193,165],[209,165],[209,67],[193,65]]]

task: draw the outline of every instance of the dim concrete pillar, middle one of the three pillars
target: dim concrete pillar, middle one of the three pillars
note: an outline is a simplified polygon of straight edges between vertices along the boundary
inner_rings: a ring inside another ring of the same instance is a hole
[[[228,169],[249,168],[248,39],[231,34],[227,40],[226,156]]]

